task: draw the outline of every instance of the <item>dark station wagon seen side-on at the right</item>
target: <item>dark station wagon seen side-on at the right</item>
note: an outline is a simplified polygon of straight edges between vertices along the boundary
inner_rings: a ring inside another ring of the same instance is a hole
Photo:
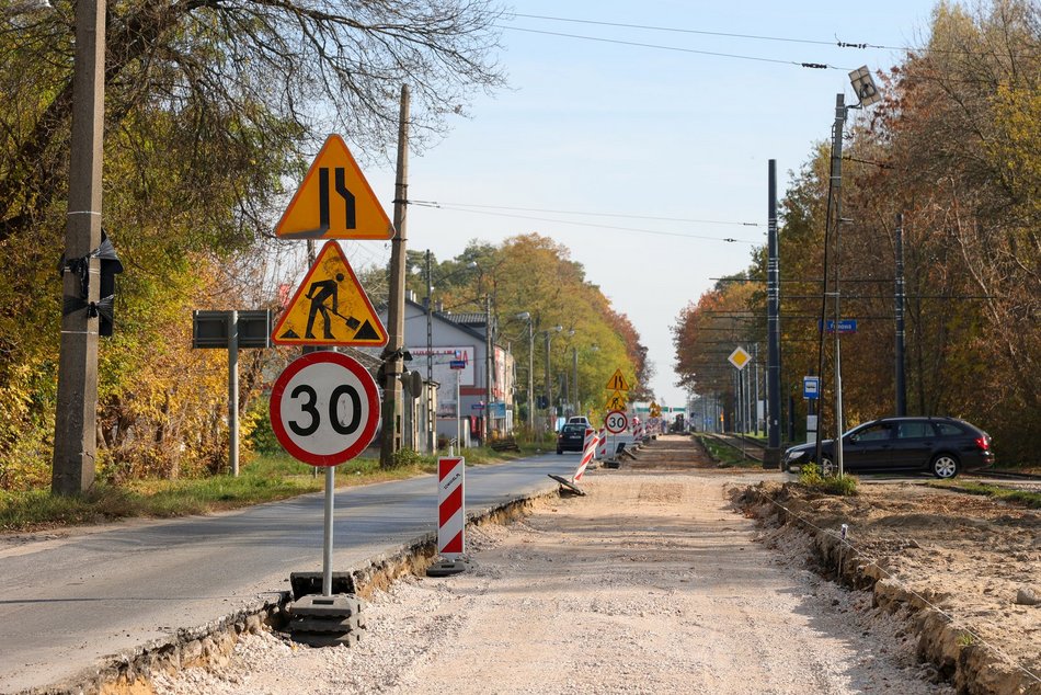
[[[821,443],[821,467],[834,470],[833,440]],[[785,452],[783,467],[815,463],[816,444],[800,444]],[[962,470],[977,470],[994,463],[991,435],[956,418],[882,418],[843,435],[844,471],[926,470],[937,478],[953,478]]]

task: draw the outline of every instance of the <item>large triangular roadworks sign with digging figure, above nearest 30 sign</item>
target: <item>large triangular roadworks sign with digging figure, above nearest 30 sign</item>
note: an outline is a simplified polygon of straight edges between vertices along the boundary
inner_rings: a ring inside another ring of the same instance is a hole
[[[387,344],[387,330],[339,243],[322,247],[271,340],[279,345]]]

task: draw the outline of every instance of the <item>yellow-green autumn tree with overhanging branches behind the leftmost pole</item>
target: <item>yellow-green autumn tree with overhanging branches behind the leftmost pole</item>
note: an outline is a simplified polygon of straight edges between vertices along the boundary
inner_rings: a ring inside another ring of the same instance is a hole
[[[33,482],[53,430],[75,2],[52,5],[0,16],[3,487]],[[275,300],[264,264],[279,252],[268,239],[283,183],[327,133],[381,157],[408,83],[423,146],[500,84],[497,12],[481,0],[107,3],[103,225],[126,265],[100,363],[113,469],[217,466],[226,377],[187,346],[191,309]]]

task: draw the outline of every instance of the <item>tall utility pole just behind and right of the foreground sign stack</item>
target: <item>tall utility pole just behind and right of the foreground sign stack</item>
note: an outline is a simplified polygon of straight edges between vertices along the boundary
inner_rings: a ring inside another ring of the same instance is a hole
[[[387,307],[387,348],[384,350],[384,403],[380,412],[382,431],[379,440],[379,465],[393,466],[401,448],[401,381],[404,371],[404,265],[408,239],[409,204],[409,86],[401,86],[401,113],[398,124],[398,174],[394,181],[394,237],[390,242],[390,298]]]

